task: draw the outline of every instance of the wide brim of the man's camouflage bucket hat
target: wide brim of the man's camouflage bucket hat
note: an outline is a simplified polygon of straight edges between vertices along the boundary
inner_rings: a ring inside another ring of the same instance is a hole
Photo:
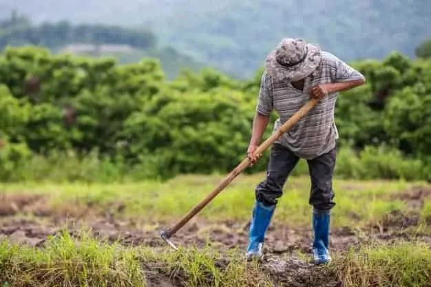
[[[320,63],[320,47],[307,44],[308,53],[304,61],[292,67],[286,67],[277,62],[275,54],[277,49],[272,50],[265,59],[265,70],[272,78],[281,81],[299,81],[313,73]]]

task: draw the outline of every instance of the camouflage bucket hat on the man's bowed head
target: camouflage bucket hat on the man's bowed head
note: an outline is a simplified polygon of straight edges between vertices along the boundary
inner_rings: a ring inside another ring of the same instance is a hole
[[[282,81],[299,81],[316,70],[320,52],[319,47],[303,39],[282,39],[266,56],[266,72]]]

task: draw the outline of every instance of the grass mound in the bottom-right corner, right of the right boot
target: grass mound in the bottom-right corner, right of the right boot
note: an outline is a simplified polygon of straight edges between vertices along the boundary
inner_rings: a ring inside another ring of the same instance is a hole
[[[431,250],[421,242],[372,244],[337,256],[328,267],[342,286],[431,286]]]

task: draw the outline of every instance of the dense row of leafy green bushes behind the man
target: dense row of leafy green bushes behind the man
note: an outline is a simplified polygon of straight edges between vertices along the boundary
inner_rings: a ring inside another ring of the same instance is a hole
[[[337,102],[338,175],[430,179],[431,61],[394,53],[354,65],[368,81]],[[167,81],[152,59],[117,65],[36,47],[7,48],[0,67],[2,180],[227,172],[244,157],[262,72]]]

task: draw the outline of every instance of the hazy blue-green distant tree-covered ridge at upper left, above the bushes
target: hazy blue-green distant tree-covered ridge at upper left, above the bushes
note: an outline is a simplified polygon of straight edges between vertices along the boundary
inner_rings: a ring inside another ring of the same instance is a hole
[[[172,47],[162,47],[151,30],[105,24],[72,25],[68,21],[34,25],[16,12],[0,21],[0,48],[38,45],[55,54],[65,52],[93,57],[112,57],[119,63],[134,63],[145,57],[160,59],[167,77],[173,78],[185,67],[202,67],[190,56]],[[85,45],[84,50],[80,45]]]

